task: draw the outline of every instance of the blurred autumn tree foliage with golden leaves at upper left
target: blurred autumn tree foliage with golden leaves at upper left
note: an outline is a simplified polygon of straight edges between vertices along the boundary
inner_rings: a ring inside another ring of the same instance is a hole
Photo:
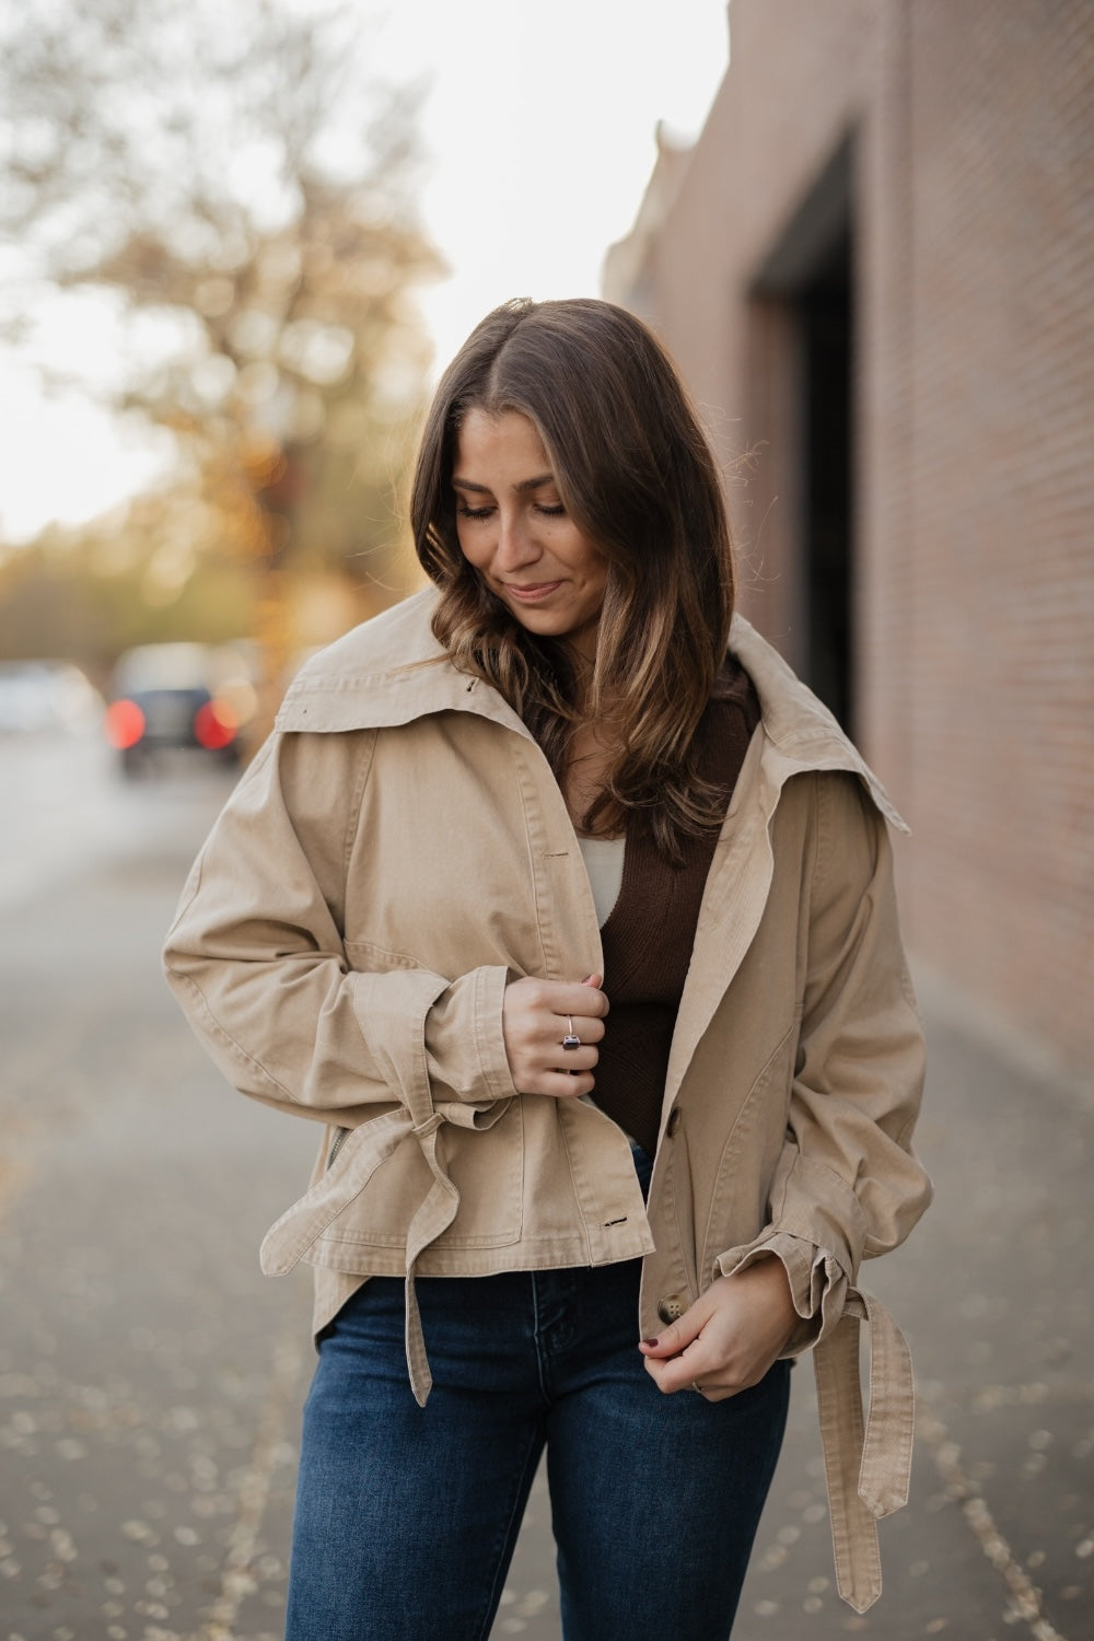
[[[95,294],[118,333],[97,386],[179,451],[116,545],[128,571],[103,573],[95,528],[0,569],[7,653],[46,586],[107,648],[198,619],[221,635],[262,597],[248,566],[397,597],[428,364],[413,287],[440,264],[412,208],[413,98],[369,79],[359,13],[0,0],[0,110],[7,345],[34,358],[56,304]]]

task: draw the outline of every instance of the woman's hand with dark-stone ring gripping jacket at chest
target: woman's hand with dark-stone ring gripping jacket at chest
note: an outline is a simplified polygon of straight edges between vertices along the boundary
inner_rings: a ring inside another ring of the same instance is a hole
[[[592,1093],[595,1044],[604,1037],[609,999],[602,975],[572,985],[559,980],[513,980],[505,986],[502,1034],[513,1086],[522,1095],[571,1099]],[[579,1049],[563,1049],[571,1031]]]

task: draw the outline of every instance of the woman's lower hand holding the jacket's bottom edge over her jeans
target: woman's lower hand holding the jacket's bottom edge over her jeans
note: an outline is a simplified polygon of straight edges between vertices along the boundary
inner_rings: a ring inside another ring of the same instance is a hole
[[[661,1390],[700,1390],[707,1401],[725,1401],[759,1383],[795,1321],[786,1267],[768,1254],[718,1277],[679,1321],[638,1349]]]

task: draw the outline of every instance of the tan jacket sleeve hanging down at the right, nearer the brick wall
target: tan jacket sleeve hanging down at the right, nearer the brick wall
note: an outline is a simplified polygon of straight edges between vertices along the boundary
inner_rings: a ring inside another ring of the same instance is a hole
[[[805,986],[786,1142],[751,1242],[730,1273],[774,1254],[800,1326],[794,1354],[836,1326],[863,1259],[909,1234],[932,1198],[912,1150],[925,1052],[904,958],[884,817],[856,776],[814,776],[815,858]]]

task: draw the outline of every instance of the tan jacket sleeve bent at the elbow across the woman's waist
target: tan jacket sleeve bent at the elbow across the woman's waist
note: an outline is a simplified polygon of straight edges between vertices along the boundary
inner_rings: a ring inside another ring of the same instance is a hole
[[[374,732],[274,734],[198,855],[164,967],[241,1093],[356,1126],[403,1104],[459,1126],[515,1095],[502,1037],[508,971],[354,971],[346,871]],[[392,884],[392,893],[397,884]]]

